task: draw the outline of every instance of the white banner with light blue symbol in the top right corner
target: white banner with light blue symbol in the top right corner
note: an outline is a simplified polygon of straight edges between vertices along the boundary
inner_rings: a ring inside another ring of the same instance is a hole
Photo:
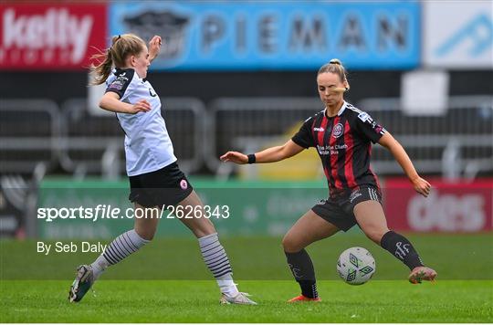
[[[427,0],[423,5],[425,66],[493,69],[491,0]]]

